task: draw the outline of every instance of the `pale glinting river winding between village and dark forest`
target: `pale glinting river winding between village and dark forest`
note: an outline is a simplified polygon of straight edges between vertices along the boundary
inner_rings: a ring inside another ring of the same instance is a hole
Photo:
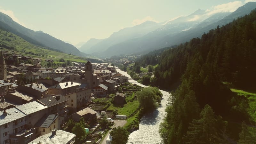
[[[124,76],[129,76],[126,72],[116,68],[116,71]],[[129,80],[130,83],[136,83],[142,87],[146,87],[143,84],[137,83],[135,80]],[[163,99],[161,101],[161,107],[157,108],[154,112],[144,115],[140,119],[139,130],[132,132],[129,135],[128,144],[162,144],[161,137],[158,132],[160,123],[165,116],[165,108],[168,103],[170,93],[160,90],[163,93]]]

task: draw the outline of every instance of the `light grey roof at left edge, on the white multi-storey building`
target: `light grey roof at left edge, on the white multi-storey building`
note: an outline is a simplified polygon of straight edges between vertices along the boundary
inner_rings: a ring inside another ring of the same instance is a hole
[[[14,120],[17,120],[17,119],[19,119],[21,117],[25,117],[26,116],[24,113],[22,113],[17,108],[10,108],[10,109],[7,109],[6,111],[8,113],[7,116],[3,115],[4,111],[0,111],[0,125],[4,125],[4,124],[7,124],[7,123],[10,123],[10,122],[12,122]]]

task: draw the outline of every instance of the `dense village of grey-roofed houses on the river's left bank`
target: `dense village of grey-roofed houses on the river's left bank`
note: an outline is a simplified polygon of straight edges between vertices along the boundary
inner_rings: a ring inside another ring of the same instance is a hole
[[[26,63],[14,65],[17,61]],[[74,143],[76,135],[64,130],[69,120],[79,122],[81,117],[90,126],[86,128],[90,135],[80,143],[100,143],[105,132],[100,120],[108,118],[111,126],[112,118],[127,118],[117,112],[113,115],[117,109],[109,106],[123,105],[127,95],[129,101],[136,99],[138,87],[129,85],[128,77],[117,73],[114,66],[88,61],[51,68],[40,63],[40,58],[0,53],[1,144]]]

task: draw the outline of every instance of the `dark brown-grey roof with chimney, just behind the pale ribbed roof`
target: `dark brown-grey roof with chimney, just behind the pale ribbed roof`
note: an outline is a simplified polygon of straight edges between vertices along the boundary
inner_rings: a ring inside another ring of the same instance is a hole
[[[59,96],[60,96],[60,99],[58,99],[56,96],[50,96],[38,101],[43,103],[47,107],[51,107],[51,106],[60,104],[62,102],[68,101],[68,98],[64,97],[63,95],[59,94]]]

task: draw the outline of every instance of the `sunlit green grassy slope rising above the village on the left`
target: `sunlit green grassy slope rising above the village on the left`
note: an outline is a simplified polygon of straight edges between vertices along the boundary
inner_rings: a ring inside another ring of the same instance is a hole
[[[10,37],[10,36],[13,36],[13,37]],[[21,37],[14,35],[10,32],[4,31],[2,29],[0,29],[0,44],[12,46],[15,48],[15,50],[12,52],[19,53],[19,54],[21,53],[24,56],[32,56],[34,58],[53,59],[53,60],[58,60],[60,58],[63,58],[64,60],[71,60],[76,62],[87,62],[85,58],[44,49],[44,47],[30,44],[24,39],[22,39]],[[25,52],[34,52],[41,56],[26,54]]]

